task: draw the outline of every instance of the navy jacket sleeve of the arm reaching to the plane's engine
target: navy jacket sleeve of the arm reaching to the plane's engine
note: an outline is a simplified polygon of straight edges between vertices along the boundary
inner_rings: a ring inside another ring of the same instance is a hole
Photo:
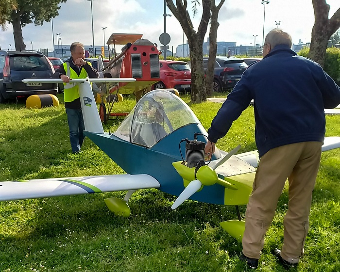
[[[247,76],[243,74],[241,80],[228,95],[221,109],[212,120],[211,127],[208,129],[208,140],[212,143],[216,143],[217,140],[227,134],[233,122],[248,108],[253,99],[247,87],[248,83]]]

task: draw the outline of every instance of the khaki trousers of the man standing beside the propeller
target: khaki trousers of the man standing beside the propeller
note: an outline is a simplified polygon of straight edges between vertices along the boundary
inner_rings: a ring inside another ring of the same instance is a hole
[[[271,149],[259,161],[249,197],[242,239],[243,254],[258,259],[288,177],[289,202],[281,256],[297,263],[304,254],[312,191],[321,158],[321,142],[287,144]]]

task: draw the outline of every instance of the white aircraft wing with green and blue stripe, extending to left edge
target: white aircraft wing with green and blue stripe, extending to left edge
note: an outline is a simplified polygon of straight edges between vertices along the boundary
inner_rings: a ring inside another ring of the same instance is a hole
[[[0,181],[0,201],[159,187],[156,179],[144,174]]]

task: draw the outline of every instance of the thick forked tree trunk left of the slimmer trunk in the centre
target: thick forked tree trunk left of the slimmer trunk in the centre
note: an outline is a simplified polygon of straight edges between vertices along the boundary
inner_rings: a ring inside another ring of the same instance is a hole
[[[166,0],[172,14],[177,18],[187,35],[191,61],[191,102],[206,101],[203,71],[203,39],[210,19],[211,0],[202,0],[203,14],[197,33],[187,12],[187,0]]]

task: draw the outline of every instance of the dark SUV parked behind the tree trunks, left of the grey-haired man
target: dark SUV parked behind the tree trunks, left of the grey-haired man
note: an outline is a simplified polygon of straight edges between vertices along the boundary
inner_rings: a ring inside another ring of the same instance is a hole
[[[208,66],[208,57],[203,57],[204,72]],[[216,57],[214,68],[214,92],[222,92],[223,89],[232,89],[248,65],[235,57]]]

